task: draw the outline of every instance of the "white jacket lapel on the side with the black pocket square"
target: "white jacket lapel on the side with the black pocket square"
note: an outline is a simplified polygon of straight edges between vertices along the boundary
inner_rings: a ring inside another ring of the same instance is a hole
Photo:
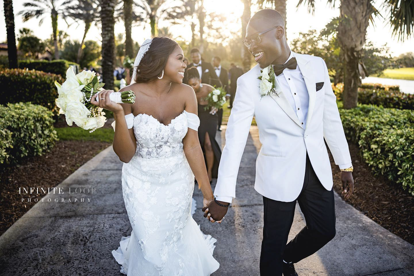
[[[316,87],[315,87],[315,75],[310,68],[309,60],[306,60],[301,55],[294,53],[296,61],[298,62],[299,69],[305,80],[306,89],[309,94],[309,106],[308,106],[308,115],[306,117],[306,127],[308,127],[310,118],[312,118],[313,109],[315,108],[315,98],[316,98]]]

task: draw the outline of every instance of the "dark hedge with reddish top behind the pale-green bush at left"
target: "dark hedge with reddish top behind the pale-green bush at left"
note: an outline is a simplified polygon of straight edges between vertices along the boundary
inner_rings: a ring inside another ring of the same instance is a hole
[[[6,92],[0,97],[0,104],[30,101],[57,114],[55,98],[58,98],[58,89],[55,80],[63,82],[60,75],[35,70],[0,68],[0,87]]]

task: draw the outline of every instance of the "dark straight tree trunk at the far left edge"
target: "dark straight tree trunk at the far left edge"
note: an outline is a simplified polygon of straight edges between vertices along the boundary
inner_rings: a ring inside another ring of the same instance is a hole
[[[13,1],[4,0],[4,17],[7,30],[7,54],[9,68],[17,68],[16,36],[14,34]]]

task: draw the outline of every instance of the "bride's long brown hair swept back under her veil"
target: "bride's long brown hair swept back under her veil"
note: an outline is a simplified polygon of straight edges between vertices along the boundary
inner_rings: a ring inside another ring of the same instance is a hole
[[[151,46],[136,68],[135,82],[151,82],[161,75],[168,56],[177,46],[177,42],[166,36],[152,38]]]

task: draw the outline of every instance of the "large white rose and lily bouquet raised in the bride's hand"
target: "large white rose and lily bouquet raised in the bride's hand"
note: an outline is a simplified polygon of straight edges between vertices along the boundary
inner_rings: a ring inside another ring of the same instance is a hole
[[[102,91],[104,83],[100,83],[95,72],[83,70],[75,75],[73,68],[66,71],[66,80],[63,84],[55,81],[59,97],[55,100],[59,114],[65,114],[67,125],[73,122],[84,130],[94,132],[106,122],[103,108],[91,104],[92,95]],[[98,101],[97,97],[97,101]],[[111,101],[115,103],[135,103],[135,94],[131,90],[112,92],[109,94]]]

